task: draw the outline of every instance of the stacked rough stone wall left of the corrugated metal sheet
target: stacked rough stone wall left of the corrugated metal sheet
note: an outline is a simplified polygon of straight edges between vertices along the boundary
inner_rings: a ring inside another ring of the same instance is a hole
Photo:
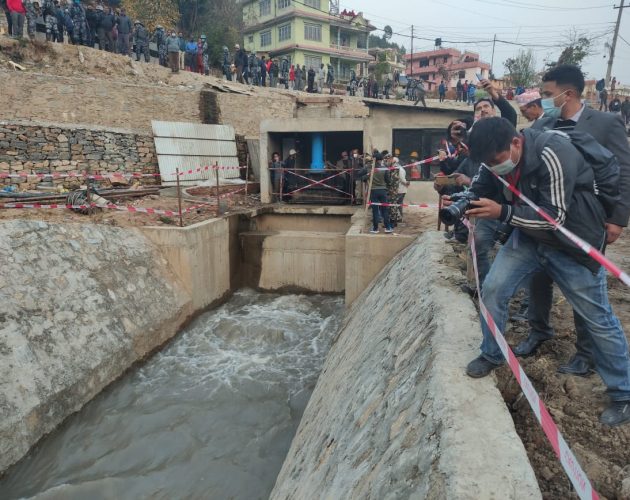
[[[159,172],[153,137],[131,130],[0,121],[0,173]],[[35,177],[0,180],[33,188]],[[58,179],[67,187],[77,179]],[[143,183],[157,182],[143,178]]]

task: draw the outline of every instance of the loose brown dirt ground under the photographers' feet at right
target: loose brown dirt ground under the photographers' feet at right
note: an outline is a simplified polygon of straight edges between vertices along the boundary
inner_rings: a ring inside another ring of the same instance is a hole
[[[461,253],[462,249],[461,245],[455,245],[456,254]],[[629,269],[630,233],[626,231],[607,253],[623,269]],[[465,267],[462,259],[452,257],[451,262]],[[630,289],[612,277],[609,277],[608,288],[614,312],[630,339]],[[514,300],[512,309],[517,310],[518,306],[518,300]],[[610,428],[599,423],[599,414],[604,410],[608,399],[598,375],[581,378],[562,375],[556,371],[575,352],[572,310],[559,291],[554,296],[552,322],[556,338],[543,344],[537,355],[520,359],[523,369],[595,489],[605,498],[628,500],[630,425]],[[528,325],[509,323],[506,330],[508,342],[515,346],[526,338]],[[497,380],[514,418],[517,432],[527,449],[544,498],[578,498],[507,366],[497,371]],[[622,484],[624,479],[626,489]]]

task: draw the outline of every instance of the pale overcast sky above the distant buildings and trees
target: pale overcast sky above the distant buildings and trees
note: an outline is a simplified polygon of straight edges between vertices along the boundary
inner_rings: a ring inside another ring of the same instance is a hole
[[[414,52],[432,50],[433,40],[441,37],[444,47],[479,52],[490,63],[492,38],[531,46],[537,67],[546,59],[556,59],[557,47],[566,43],[573,27],[595,38],[594,54],[582,65],[587,78],[599,79],[606,75],[609,50],[605,43],[612,35],[620,0],[340,0],[341,10],[362,11],[372,24],[382,28],[389,24],[395,33],[393,41],[410,48],[411,25],[414,35],[429,40],[414,40]],[[626,5],[630,0],[626,0]],[[630,8],[624,9],[614,59],[612,76],[630,85]],[[376,32],[382,35],[382,32]],[[450,40],[450,42],[448,41]],[[463,43],[470,41],[472,43]],[[504,73],[503,61],[515,55],[516,45],[496,44],[494,73]],[[606,56],[606,57],[604,57]]]

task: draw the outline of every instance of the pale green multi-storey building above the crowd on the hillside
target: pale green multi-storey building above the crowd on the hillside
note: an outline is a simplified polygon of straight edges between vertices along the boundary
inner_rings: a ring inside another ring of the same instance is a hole
[[[244,49],[291,64],[317,69],[332,64],[335,79],[347,81],[350,70],[367,74],[374,57],[368,35],[376,27],[361,13],[329,13],[329,0],[244,0]]]

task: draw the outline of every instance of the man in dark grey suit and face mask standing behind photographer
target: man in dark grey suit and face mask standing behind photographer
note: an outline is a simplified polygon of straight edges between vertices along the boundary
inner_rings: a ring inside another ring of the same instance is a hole
[[[620,200],[605,221],[606,243],[614,243],[630,216],[630,147],[623,121],[618,115],[602,113],[585,106],[581,101],[584,90],[584,75],[577,66],[561,65],[543,76],[542,107],[545,116],[537,120],[532,128],[575,129],[592,135],[599,144],[613,153],[620,166]],[[530,289],[529,323],[530,333],[515,349],[517,355],[530,356],[538,347],[554,336],[549,321],[553,301],[553,281],[546,273],[532,278]],[[593,369],[593,346],[587,335],[586,320],[575,310],[573,313],[577,334],[577,353],[560,373],[587,376]]]

